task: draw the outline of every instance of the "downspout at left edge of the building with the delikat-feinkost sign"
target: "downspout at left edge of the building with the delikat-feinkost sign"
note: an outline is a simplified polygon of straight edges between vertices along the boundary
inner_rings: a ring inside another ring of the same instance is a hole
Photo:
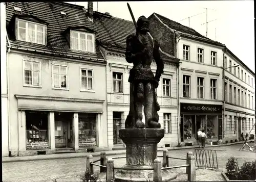
[[[177,49],[176,49],[176,58],[179,59],[179,41],[180,41],[180,35],[178,35],[179,39],[177,41]],[[177,66],[177,129],[178,129],[178,146],[180,146],[181,140],[180,140],[180,94],[179,94],[179,67],[180,67],[180,63]]]

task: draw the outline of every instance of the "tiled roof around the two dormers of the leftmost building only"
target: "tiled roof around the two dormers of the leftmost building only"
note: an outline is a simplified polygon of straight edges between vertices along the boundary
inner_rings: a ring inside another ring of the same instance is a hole
[[[70,49],[68,41],[62,35],[62,32],[69,27],[87,26],[90,23],[86,18],[83,7],[60,2],[7,3],[7,24],[14,15],[14,7],[22,9],[24,14],[33,15],[48,22],[49,25],[47,27],[47,46],[10,39],[13,48],[54,54],[57,56],[73,57],[76,59],[104,61],[98,46],[96,46],[96,54],[73,51]],[[67,17],[62,17],[60,12],[67,13]],[[98,34],[96,34],[96,39],[97,36]]]

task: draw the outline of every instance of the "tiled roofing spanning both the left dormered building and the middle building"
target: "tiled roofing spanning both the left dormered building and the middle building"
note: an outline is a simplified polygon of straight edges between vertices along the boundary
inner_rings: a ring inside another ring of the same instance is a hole
[[[98,45],[103,45],[112,50],[119,50],[124,53],[126,37],[132,33],[136,33],[132,21],[94,12],[93,22],[91,22],[87,18],[87,9],[84,9],[82,6],[62,2],[7,3],[7,23],[9,23],[14,15],[13,7],[21,8],[23,13],[36,16],[49,23],[47,27],[47,46],[10,40],[12,47],[19,47],[25,50],[36,50],[48,54],[103,60]],[[67,17],[62,17],[60,12],[67,13]],[[69,27],[78,26],[84,26],[97,32],[96,55],[81,53],[70,49],[69,43],[62,33]],[[169,59],[169,57],[162,53],[161,57],[165,60]]]

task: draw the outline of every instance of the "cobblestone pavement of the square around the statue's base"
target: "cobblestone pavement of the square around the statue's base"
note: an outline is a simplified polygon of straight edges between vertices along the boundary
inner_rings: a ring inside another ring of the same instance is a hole
[[[215,170],[199,169],[196,171],[197,181],[224,181],[221,172],[225,170],[227,159],[231,156],[238,158],[239,166],[244,160],[255,160],[255,153],[248,150],[238,151],[241,144],[223,146],[223,147],[209,147],[207,149],[217,150],[219,168]],[[172,150],[168,154],[170,157],[186,158],[188,151],[194,149]],[[162,152],[158,152],[162,155]],[[123,155],[112,155],[110,157],[121,157]],[[99,157],[95,157],[95,160]],[[185,161],[170,159],[170,166],[183,165]],[[114,164],[121,167],[125,164],[125,159],[115,159]],[[86,170],[86,158],[72,158],[72,159],[56,159],[56,160],[41,160],[41,161],[24,161],[24,162],[10,162],[3,163],[3,181],[81,181],[80,175]],[[94,170],[99,170],[95,166]],[[187,175],[185,168],[173,169],[178,173],[177,179],[174,181],[185,181]],[[214,177],[213,177],[214,176]]]

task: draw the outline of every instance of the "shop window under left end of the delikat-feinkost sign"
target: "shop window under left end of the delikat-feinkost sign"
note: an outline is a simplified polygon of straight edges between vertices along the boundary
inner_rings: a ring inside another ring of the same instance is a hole
[[[184,139],[195,139],[195,115],[194,116],[184,116]]]

